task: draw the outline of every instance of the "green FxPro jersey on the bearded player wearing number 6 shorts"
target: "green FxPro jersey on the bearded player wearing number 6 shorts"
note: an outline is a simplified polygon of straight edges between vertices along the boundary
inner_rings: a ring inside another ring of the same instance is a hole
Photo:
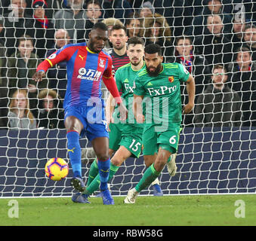
[[[180,63],[162,63],[158,76],[152,77],[146,67],[135,79],[134,94],[143,97],[146,124],[182,121],[180,82],[186,82],[190,73]]]

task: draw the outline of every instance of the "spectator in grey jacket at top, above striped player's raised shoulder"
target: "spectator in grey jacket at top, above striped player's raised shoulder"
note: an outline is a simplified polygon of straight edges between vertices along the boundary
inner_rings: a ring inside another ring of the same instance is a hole
[[[60,9],[54,14],[52,23],[55,29],[66,29],[72,43],[85,41],[86,11],[84,0],[69,0],[69,8]]]

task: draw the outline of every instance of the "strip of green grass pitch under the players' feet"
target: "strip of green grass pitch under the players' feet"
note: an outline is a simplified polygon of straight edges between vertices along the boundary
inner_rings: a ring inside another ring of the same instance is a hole
[[[256,225],[256,194],[138,196],[135,204],[114,197],[114,206],[103,206],[97,197],[90,198],[91,204],[72,203],[69,197],[17,198],[18,212],[12,200],[0,199],[1,226]],[[10,217],[14,213],[17,218]]]

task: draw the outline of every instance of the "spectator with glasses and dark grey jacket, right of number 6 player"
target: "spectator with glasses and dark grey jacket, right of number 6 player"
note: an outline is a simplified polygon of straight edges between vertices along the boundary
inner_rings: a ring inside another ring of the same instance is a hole
[[[214,66],[212,84],[199,95],[195,107],[196,127],[239,127],[242,123],[239,94],[226,84],[224,66]]]

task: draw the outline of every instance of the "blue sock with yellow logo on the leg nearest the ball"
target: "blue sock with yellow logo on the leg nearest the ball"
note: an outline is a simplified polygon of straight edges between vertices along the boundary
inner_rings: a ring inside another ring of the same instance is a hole
[[[76,131],[69,131],[66,133],[67,151],[72,166],[73,176],[82,177],[81,166],[81,147],[79,143],[79,133]]]

